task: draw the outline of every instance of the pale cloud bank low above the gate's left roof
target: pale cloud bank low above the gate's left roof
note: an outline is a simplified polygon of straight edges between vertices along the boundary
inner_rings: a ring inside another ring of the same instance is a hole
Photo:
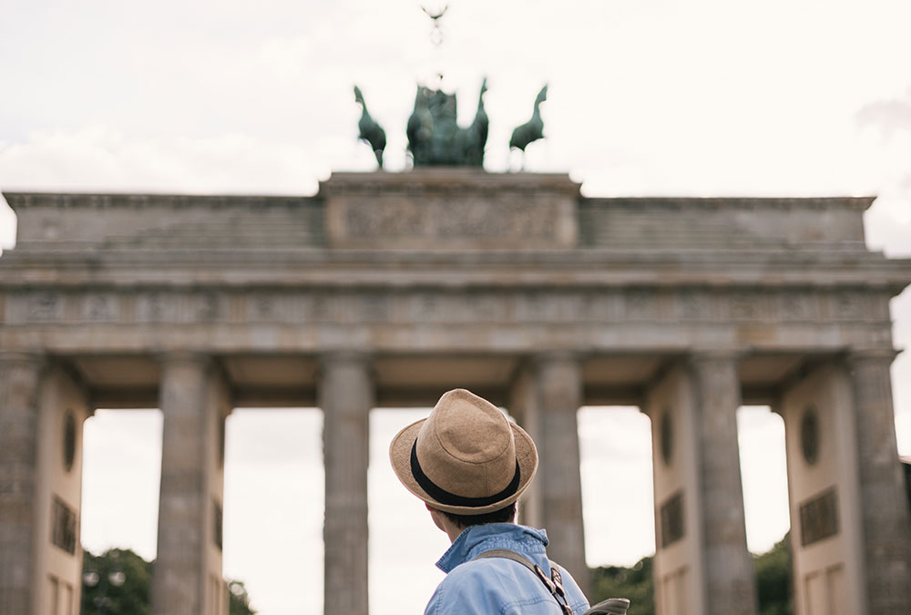
[[[331,156],[330,156],[331,158]],[[356,159],[356,156],[353,156]],[[301,144],[240,133],[131,138],[105,126],[32,135],[0,149],[5,190],[313,193],[329,174]]]

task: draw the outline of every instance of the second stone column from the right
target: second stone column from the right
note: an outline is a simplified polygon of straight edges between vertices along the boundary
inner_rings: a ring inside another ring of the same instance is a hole
[[[746,547],[737,445],[737,361],[733,355],[699,354],[691,357],[690,369],[696,393],[707,612],[754,615],[756,583]]]

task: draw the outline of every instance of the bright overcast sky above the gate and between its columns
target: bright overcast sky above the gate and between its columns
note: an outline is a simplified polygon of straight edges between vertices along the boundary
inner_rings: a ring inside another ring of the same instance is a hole
[[[911,256],[906,1],[448,6],[434,46],[411,0],[0,0],[0,190],[310,195],[335,170],[375,168],[357,142],[354,84],[385,128],[395,171],[406,166],[415,85],[454,91],[466,124],[487,77],[489,171],[568,172],[599,197],[877,196],[868,246]],[[546,138],[522,161],[508,137],[545,83]],[[14,246],[15,215],[0,200],[0,247]],[[892,313],[904,348],[911,292]],[[904,354],[893,386],[899,449],[911,456]],[[445,536],[384,458],[420,413],[371,419],[370,582],[381,615],[420,612],[442,577],[433,562]],[[783,425],[765,408],[742,409],[738,424],[748,540],[762,551],[787,529]],[[322,605],[321,425],[312,409],[229,419],[225,572],[247,582],[263,615]],[[589,564],[630,564],[654,548],[648,430],[635,409],[579,414]],[[606,437],[612,446],[599,446]],[[154,557],[159,446],[157,411],[87,421],[87,548]],[[609,504],[616,490],[628,506]],[[415,579],[404,595],[394,589],[402,573]]]

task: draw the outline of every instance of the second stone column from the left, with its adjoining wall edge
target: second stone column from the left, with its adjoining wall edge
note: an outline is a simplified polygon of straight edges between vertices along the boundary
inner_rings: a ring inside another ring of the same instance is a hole
[[[208,615],[220,602],[220,421],[226,387],[210,358],[162,361],[159,546],[152,583],[155,615]]]

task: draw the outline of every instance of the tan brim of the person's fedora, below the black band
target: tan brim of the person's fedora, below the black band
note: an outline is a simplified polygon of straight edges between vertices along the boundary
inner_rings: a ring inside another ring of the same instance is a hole
[[[415,423],[404,427],[402,431],[395,435],[389,445],[389,460],[392,462],[395,476],[402,481],[404,487],[430,506],[455,515],[484,515],[515,502],[522,496],[535,477],[537,472],[537,449],[535,448],[535,443],[524,429],[510,421],[509,426],[512,428],[513,438],[516,443],[516,461],[519,471],[519,483],[516,493],[484,507],[451,506],[436,501],[417,484],[415,476],[411,472],[411,449],[412,446],[415,446],[417,433],[421,430],[421,425],[424,425],[426,420],[422,418],[419,421],[415,421]]]

